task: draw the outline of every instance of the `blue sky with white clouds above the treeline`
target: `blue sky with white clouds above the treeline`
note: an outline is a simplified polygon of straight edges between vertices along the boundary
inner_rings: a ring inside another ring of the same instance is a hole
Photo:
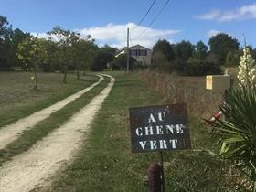
[[[256,0],[169,0],[149,26],[167,1],[156,0],[139,26],[154,0],[0,0],[0,15],[13,28],[37,37],[61,26],[83,37],[90,34],[99,46],[123,48],[129,27],[131,46],[152,48],[158,39],[207,44],[224,32],[236,37],[240,46],[245,36],[247,44],[256,47]]]

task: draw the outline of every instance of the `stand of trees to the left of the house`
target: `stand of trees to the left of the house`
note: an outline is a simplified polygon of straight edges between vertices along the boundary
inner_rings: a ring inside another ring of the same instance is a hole
[[[0,16],[0,70],[42,69],[43,71],[102,70],[112,61],[117,48],[99,48],[91,36],[54,27],[48,38],[33,37],[13,29]]]

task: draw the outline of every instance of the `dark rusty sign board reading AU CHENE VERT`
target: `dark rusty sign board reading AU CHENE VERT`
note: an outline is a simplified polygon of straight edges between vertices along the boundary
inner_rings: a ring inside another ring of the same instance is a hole
[[[132,152],[191,148],[186,104],[130,108]]]

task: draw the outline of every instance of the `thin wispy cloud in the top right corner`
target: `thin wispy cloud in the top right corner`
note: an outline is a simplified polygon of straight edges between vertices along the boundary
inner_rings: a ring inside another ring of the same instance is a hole
[[[196,16],[203,20],[228,22],[233,20],[256,19],[256,4],[241,6],[234,10],[214,9],[207,14]]]

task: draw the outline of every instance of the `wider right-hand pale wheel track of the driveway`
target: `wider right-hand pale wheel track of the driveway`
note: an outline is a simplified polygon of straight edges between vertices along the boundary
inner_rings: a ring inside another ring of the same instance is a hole
[[[35,144],[24,154],[17,155],[0,169],[1,192],[29,191],[53,176],[61,165],[69,162],[80,147],[95,114],[109,95],[114,84],[108,86],[84,108],[53,133]]]

